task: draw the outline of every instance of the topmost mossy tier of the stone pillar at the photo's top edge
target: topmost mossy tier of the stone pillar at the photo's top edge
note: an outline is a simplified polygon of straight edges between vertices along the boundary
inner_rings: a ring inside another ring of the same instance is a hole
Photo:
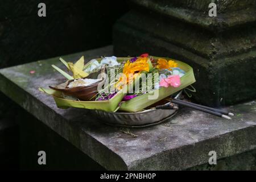
[[[256,20],[256,2],[254,0],[132,0],[141,9],[160,13],[170,18],[180,19],[183,22],[195,24],[209,30],[223,31],[244,23]],[[215,2],[217,17],[208,16],[208,5]]]

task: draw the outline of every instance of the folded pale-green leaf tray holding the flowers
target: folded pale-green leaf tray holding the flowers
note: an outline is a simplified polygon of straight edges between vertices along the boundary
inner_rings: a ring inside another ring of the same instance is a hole
[[[158,59],[160,57],[154,57],[154,59]],[[162,57],[161,57],[162,58]],[[118,61],[127,61],[131,59],[130,57],[118,57]],[[164,58],[169,59],[169,58]],[[101,59],[96,59],[97,61],[101,61]],[[172,59],[173,60],[173,59]],[[193,84],[195,82],[195,76],[193,75],[193,69],[188,65],[181,61],[175,60],[178,64],[178,67],[183,69],[186,73],[183,77],[181,77],[181,85],[178,88],[160,88],[158,90],[154,90],[153,92],[143,94],[141,96],[135,97],[129,101],[121,102],[122,98],[126,96],[125,93],[120,90],[113,98],[111,98],[108,101],[75,101],[75,100],[68,100],[66,98],[63,98],[62,94],[58,91],[52,90],[52,89],[44,89],[39,88],[40,91],[52,95],[54,98],[57,107],[61,109],[67,109],[68,107],[77,107],[77,108],[84,108],[84,109],[96,109],[96,110],[104,110],[104,111],[110,111],[114,112],[117,110],[127,111],[127,112],[137,112],[140,111],[155,102],[158,102],[160,100],[163,100],[164,98],[170,96],[171,94],[174,94],[175,92],[178,92],[179,90]],[[91,61],[89,61],[86,65],[88,66]],[[148,96],[152,96],[155,94],[155,92],[159,92],[158,98],[154,100],[150,100]],[[121,106],[120,106],[121,103]]]

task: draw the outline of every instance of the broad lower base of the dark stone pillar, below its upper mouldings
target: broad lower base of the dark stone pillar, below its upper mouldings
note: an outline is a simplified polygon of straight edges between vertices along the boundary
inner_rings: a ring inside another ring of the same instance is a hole
[[[130,11],[114,26],[114,54],[148,52],[184,61],[194,69],[197,93],[206,105],[230,105],[255,97],[256,26],[209,31],[147,10]]]

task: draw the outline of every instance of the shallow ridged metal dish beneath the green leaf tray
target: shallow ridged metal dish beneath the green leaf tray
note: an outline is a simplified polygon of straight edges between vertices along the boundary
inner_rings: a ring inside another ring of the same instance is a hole
[[[106,112],[102,110],[90,110],[91,113],[102,122],[125,127],[146,127],[152,126],[170,119],[177,113],[174,109],[147,109],[137,113]]]

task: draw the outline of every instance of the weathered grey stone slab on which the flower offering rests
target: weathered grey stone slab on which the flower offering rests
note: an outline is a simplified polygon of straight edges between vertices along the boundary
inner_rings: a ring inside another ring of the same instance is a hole
[[[64,59],[112,54],[112,47],[106,47]],[[186,169],[207,163],[211,150],[221,159],[256,148],[255,101],[226,107],[236,113],[232,121],[180,109],[172,118],[177,124],[131,129],[138,137],[130,138],[119,127],[98,122],[85,109],[58,109],[52,97],[39,92],[39,86],[64,81],[51,64],[64,68],[56,57],[1,69],[0,90],[106,169]]]

